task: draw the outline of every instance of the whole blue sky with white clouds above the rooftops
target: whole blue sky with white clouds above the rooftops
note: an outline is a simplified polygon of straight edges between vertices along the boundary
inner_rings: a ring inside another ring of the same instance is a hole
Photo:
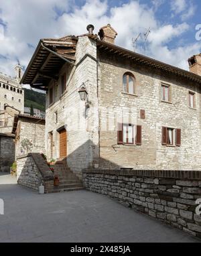
[[[17,59],[25,68],[40,38],[84,34],[88,23],[96,34],[111,23],[115,44],[129,50],[141,33],[136,52],[188,70],[187,59],[201,52],[200,12],[200,0],[0,0],[0,70],[13,75]]]

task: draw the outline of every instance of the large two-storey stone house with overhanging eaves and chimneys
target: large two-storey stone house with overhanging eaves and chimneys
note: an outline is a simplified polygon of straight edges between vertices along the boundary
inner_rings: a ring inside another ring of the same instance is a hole
[[[115,46],[107,25],[40,40],[21,82],[46,90],[46,153],[84,168],[200,170],[200,54],[190,71]]]

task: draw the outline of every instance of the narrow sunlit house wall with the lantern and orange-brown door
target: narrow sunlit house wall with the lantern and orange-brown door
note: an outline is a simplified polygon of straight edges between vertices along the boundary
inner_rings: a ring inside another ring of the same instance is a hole
[[[46,97],[46,152],[51,158],[49,134],[53,134],[54,159],[60,157],[60,139],[58,128],[64,126],[67,131],[67,162],[73,172],[81,174],[83,168],[92,166],[98,157],[98,100],[97,100],[97,70],[96,61],[90,57],[82,59],[86,54],[96,58],[96,43],[86,37],[80,37],[76,46],[76,64],[70,68],[65,64],[60,70],[60,76],[66,73],[66,90],[60,91],[60,79],[51,82],[54,91],[54,103],[49,105],[49,92]],[[82,83],[88,91],[90,108],[85,108],[80,100],[78,90]],[[50,90],[49,90],[50,91]],[[55,122],[54,115],[58,114]]]

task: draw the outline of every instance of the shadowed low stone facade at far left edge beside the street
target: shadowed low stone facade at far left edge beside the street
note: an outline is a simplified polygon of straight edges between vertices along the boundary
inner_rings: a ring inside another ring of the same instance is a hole
[[[0,133],[0,172],[10,172],[15,161],[15,136]]]

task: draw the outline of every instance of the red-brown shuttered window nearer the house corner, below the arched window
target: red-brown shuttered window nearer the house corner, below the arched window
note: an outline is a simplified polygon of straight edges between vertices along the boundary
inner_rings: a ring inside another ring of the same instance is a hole
[[[141,126],[118,123],[117,143],[141,145]]]

